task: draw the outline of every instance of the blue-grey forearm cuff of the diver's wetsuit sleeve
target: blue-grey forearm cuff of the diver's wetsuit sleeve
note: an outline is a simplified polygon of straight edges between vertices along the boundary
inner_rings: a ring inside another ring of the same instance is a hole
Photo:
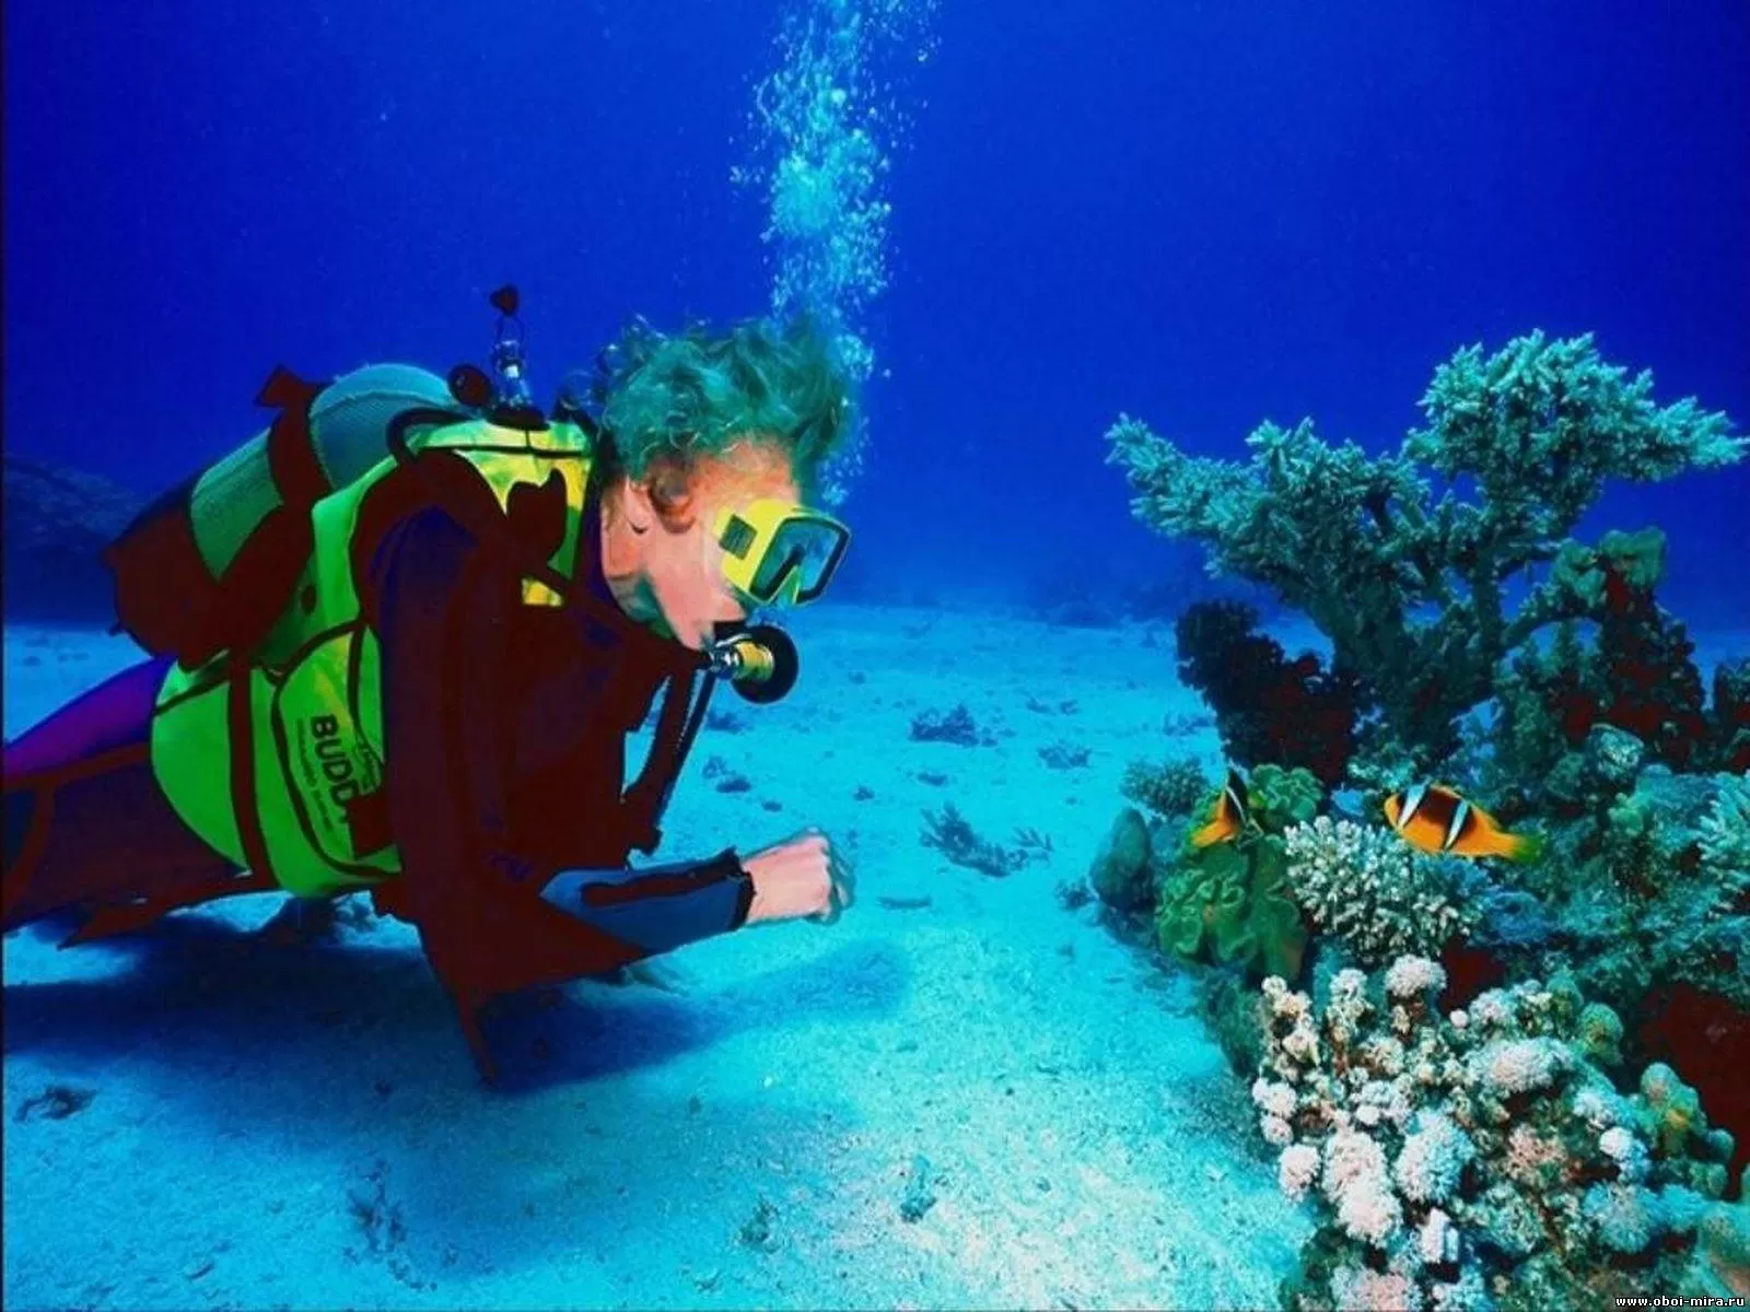
[[[754,882],[733,848],[702,862],[642,869],[562,869],[541,896],[646,955],[747,924]]]

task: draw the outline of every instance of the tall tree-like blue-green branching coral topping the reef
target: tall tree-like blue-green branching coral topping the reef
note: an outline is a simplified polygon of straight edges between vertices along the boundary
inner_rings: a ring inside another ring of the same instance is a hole
[[[1465,348],[1421,409],[1426,427],[1377,458],[1332,446],[1311,420],[1264,423],[1250,462],[1186,455],[1129,416],[1108,439],[1136,516],[1202,541],[1213,572],[1302,609],[1379,728],[1430,768],[1456,749],[1458,717],[1493,694],[1505,656],[1545,625],[1600,618],[1572,570],[1512,611],[1508,581],[1558,558],[1608,479],[1727,465],[1746,443],[1692,399],[1657,406],[1652,376],[1605,364],[1591,336]]]

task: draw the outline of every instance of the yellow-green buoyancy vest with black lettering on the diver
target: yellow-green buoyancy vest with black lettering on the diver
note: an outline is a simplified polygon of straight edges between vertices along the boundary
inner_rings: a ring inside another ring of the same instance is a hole
[[[565,488],[564,544],[548,560],[569,579],[590,472],[584,432],[544,430],[418,411],[406,448],[443,448],[464,460],[508,511],[518,486]],[[327,896],[399,871],[383,791],[382,666],[354,576],[368,493],[401,469],[396,455],[312,509],[315,546],[268,639],[194,670],[173,665],[158,694],[152,768],[172,806],[210,847],[299,896]],[[546,576],[551,581],[553,576]],[[560,595],[523,579],[527,605]]]

